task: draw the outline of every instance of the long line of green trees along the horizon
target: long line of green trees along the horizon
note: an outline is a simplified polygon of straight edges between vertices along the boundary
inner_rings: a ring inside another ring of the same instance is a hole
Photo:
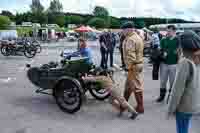
[[[0,16],[0,28],[6,27],[10,21],[17,25],[22,22],[33,22],[40,24],[58,24],[61,27],[68,27],[69,24],[90,25],[96,28],[120,28],[126,21],[132,21],[137,28],[149,27],[154,24],[163,23],[189,23],[182,19],[165,18],[145,18],[145,17],[122,17],[110,16],[108,10],[101,6],[96,6],[92,14],[64,13],[63,5],[59,0],[52,0],[50,6],[45,10],[40,0],[32,0],[30,11],[25,13],[12,14],[9,11],[2,11]],[[134,14],[133,14],[134,15]]]

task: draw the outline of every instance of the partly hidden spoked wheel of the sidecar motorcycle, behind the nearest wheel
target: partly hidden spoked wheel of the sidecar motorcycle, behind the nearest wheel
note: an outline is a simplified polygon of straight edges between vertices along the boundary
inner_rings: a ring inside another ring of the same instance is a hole
[[[97,100],[103,101],[110,96],[110,92],[106,89],[99,89],[95,85],[90,86],[90,94],[95,97]]]

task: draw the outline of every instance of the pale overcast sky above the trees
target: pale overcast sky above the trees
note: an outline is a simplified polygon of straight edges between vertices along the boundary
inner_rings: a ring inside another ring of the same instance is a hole
[[[45,8],[50,0],[40,0]],[[200,0],[60,0],[65,12],[92,13],[96,5],[117,17],[176,17],[200,21]],[[31,0],[1,0],[0,10],[24,12]]]

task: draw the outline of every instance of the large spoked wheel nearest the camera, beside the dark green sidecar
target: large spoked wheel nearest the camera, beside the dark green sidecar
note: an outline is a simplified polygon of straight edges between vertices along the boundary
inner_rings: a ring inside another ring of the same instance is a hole
[[[55,99],[60,109],[67,113],[75,113],[82,105],[82,93],[79,87],[70,80],[62,81],[55,91]]]

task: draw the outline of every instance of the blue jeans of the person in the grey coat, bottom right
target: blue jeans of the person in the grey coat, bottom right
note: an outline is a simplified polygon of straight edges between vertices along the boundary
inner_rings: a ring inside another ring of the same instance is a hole
[[[190,120],[192,118],[192,114],[189,113],[176,113],[176,130],[177,133],[188,133]]]

